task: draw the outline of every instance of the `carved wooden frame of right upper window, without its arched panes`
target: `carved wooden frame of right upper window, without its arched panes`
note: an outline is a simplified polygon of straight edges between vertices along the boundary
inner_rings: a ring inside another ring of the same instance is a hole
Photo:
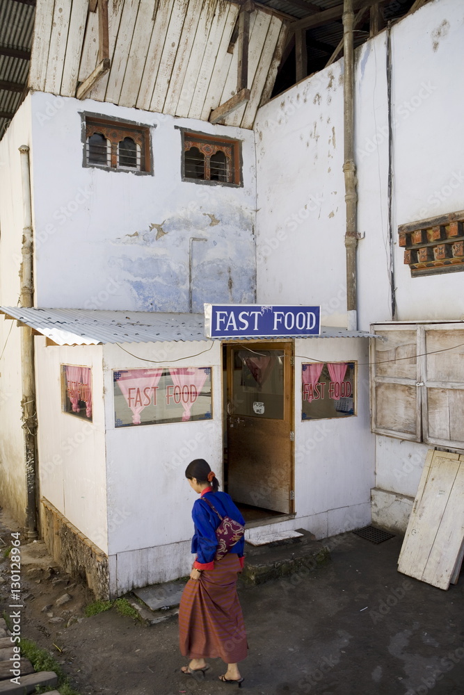
[[[186,176],[185,154],[192,147],[197,147],[205,156],[205,178],[198,179]],[[227,167],[227,181],[211,181],[211,157],[217,152],[225,155]],[[242,186],[241,177],[241,142],[231,138],[218,138],[205,133],[193,133],[182,131],[182,181],[191,183],[207,183],[213,186]]]

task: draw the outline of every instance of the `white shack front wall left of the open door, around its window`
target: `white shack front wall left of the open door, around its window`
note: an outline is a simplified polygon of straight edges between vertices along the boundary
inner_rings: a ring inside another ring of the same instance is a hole
[[[206,459],[223,482],[221,343],[124,347],[132,355],[103,348],[111,592],[118,595],[189,573],[196,498],[184,475],[189,462]],[[211,420],[116,428],[113,370],[154,366],[211,366]]]

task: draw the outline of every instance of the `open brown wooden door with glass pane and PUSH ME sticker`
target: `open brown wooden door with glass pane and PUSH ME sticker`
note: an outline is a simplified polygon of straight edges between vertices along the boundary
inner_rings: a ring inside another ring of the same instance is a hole
[[[228,491],[282,514],[293,512],[292,348],[227,346]]]

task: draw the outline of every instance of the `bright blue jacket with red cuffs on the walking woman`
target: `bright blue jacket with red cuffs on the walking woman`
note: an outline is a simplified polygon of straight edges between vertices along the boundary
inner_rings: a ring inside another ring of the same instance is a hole
[[[218,510],[221,516],[230,516],[234,521],[245,525],[245,520],[241,516],[239,509],[232,502],[230,495],[226,492],[209,491],[202,494],[199,500],[196,500],[192,509],[192,518],[195,525],[195,534],[192,539],[192,553],[196,553],[197,559],[194,566],[198,569],[214,569],[214,556],[218,541],[216,539],[216,528],[221,523],[221,519],[216,512],[213,512],[208,503],[202,498],[207,498],[214,507]],[[243,536],[232,548],[232,553],[237,553],[239,557],[243,557],[243,548],[245,539]]]

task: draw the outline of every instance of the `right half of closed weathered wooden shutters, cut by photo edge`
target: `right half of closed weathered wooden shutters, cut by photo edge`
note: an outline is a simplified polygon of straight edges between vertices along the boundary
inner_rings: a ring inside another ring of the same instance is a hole
[[[424,441],[464,448],[464,328],[451,324],[419,327],[424,358],[422,410]],[[440,350],[440,352],[437,352]]]

